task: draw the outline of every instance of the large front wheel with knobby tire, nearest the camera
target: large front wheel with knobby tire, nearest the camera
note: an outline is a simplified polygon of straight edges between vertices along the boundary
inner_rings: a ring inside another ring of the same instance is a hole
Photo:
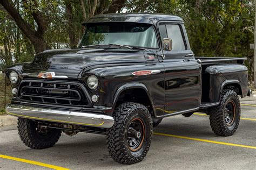
[[[139,103],[123,103],[113,117],[115,123],[106,132],[111,157],[121,164],[142,161],[149,151],[153,132],[149,110]]]

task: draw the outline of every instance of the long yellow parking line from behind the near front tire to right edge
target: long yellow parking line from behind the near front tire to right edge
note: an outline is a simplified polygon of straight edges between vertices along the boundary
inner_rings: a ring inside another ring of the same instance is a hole
[[[219,144],[219,145],[228,145],[228,146],[252,148],[252,149],[256,150],[256,146],[239,145],[239,144],[225,143],[225,142],[221,142],[221,141],[214,141],[214,140],[207,140],[207,139],[198,139],[198,138],[191,138],[191,137],[178,136],[178,135],[165,134],[165,133],[153,133],[153,134],[156,134],[156,135],[159,135],[159,136],[173,137],[173,138],[181,138],[181,139],[188,139],[188,140],[204,141],[206,143],[213,143],[213,144]]]

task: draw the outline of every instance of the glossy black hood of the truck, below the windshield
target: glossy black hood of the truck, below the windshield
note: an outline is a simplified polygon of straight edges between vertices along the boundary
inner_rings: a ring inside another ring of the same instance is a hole
[[[77,78],[83,70],[91,66],[145,62],[145,53],[149,52],[88,48],[49,50],[37,54],[31,63],[26,63],[20,74],[23,77],[37,77],[39,73],[54,72],[56,77]]]

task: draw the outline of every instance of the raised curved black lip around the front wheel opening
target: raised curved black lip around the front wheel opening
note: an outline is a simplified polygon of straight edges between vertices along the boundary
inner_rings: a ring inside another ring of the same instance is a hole
[[[126,83],[126,84],[123,84],[122,86],[120,86],[120,87],[117,89],[116,93],[114,94],[114,99],[113,99],[112,108],[115,108],[115,107],[116,107],[118,97],[119,97],[119,95],[120,95],[124,90],[127,90],[127,89],[135,89],[135,88],[141,88],[141,89],[144,89],[144,90],[146,91],[147,97],[149,97],[150,104],[151,104],[151,106],[152,106],[153,115],[156,117],[156,111],[155,111],[155,109],[154,109],[154,105],[153,105],[152,98],[151,98],[151,96],[150,96],[149,90],[147,89],[147,87],[145,86],[145,84],[139,83],[139,82]]]

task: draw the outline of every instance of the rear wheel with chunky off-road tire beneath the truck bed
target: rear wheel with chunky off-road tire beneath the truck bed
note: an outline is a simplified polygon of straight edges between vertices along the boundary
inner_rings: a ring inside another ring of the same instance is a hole
[[[232,136],[237,131],[241,108],[237,93],[224,89],[217,107],[209,109],[212,130],[218,136]]]

